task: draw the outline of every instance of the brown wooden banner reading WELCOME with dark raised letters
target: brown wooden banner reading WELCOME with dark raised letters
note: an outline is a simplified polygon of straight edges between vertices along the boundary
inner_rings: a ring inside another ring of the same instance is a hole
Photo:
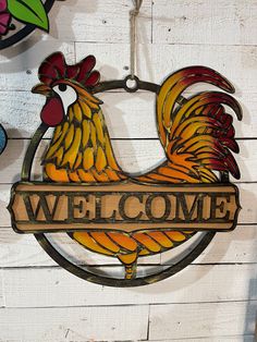
[[[231,184],[149,186],[16,183],[9,210],[20,233],[79,230],[228,231],[236,225]]]

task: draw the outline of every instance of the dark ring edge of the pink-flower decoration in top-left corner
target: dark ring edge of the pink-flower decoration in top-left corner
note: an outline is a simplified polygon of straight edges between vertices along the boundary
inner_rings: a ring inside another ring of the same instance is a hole
[[[46,3],[44,4],[46,12],[49,13],[53,3],[56,0],[46,0]],[[33,24],[26,24],[24,28],[19,30],[16,34],[12,35],[11,37],[8,37],[7,39],[0,39],[0,50],[7,49],[16,42],[21,41],[25,37],[27,37],[34,29],[36,28],[36,25]]]

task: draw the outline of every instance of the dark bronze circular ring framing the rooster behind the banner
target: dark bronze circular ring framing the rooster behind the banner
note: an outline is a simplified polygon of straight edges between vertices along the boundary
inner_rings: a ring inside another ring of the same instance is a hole
[[[138,80],[138,78],[137,78]],[[126,89],[126,82],[127,77],[124,80],[119,81],[110,81],[110,82],[102,82],[97,87],[94,88],[93,93],[101,93],[106,90],[111,89],[119,89],[123,88]],[[142,90],[148,90],[158,94],[160,86],[154,83],[149,82],[143,82],[140,80],[137,81],[137,89]],[[131,91],[130,91],[131,93]],[[134,91],[133,91],[134,93]],[[30,141],[30,144],[28,146],[23,168],[22,168],[22,180],[23,181],[29,181],[30,180],[30,171],[32,171],[32,164],[34,160],[34,156],[36,154],[37,147],[44,137],[45,133],[47,132],[48,126],[41,123],[41,125],[38,127],[36,133],[34,134],[34,137]],[[88,186],[88,184],[87,184]],[[215,232],[207,232],[204,234],[204,236],[199,240],[197,245],[185,256],[183,257],[179,262],[175,265],[169,266],[167,269],[161,270],[159,272],[146,276],[146,277],[138,277],[132,280],[126,279],[118,279],[118,278],[111,278],[111,277],[103,277],[99,276],[93,272],[89,272],[87,270],[84,270],[79,268],[78,266],[72,264],[70,260],[68,260],[60,252],[58,252],[51,242],[47,239],[46,234],[35,234],[36,240],[40,244],[40,246],[45,249],[45,252],[62,268],[66,269],[69,272],[94,283],[107,285],[107,286],[118,286],[118,288],[132,288],[132,286],[142,286],[146,284],[151,284],[154,282],[163,280],[166,278],[169,278],[179,271],[181,271],[183,268],[185,268],[187,265],[189,265],[192,261],[194,261],[201,253],[209,245],[211,240],[215,236]]]

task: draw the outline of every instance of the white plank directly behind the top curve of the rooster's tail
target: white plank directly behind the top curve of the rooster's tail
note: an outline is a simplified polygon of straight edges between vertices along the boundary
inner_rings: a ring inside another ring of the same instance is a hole
[[[188,65],[206,65],[225,76],[236,95],[256,93],[256,46],[154,45],[152,71],[161,83],[173,70]],[[206,89],[206,85],[198,87]]]

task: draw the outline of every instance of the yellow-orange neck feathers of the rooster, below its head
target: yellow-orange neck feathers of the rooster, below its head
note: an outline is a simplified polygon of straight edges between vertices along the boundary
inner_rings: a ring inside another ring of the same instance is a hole
[[[44,158],[45,173],[56,181],[120,181],[124,175],[118,166],[102,111],[98,103],[77,99],[57,126]],[[85,176],[85,179],[84,179]]]

